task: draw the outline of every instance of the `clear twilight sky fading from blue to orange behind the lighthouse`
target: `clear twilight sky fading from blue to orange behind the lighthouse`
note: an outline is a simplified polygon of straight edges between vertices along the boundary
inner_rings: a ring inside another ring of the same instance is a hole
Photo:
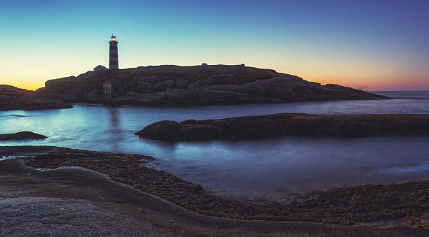
[[[365,90],[429,89],[429,1],[5,1],[0,84],[108,66],[245,64]]]

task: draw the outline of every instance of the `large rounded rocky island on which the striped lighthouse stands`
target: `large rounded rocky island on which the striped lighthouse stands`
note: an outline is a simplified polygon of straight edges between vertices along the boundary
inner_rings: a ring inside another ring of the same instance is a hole
[[[111,84],[112,94],[103,94]],[[320,85],[297,76],[249,66],[139,66],[88,71],[45,83],[68,102],[142,106],[212,106],[346,99],[383,99],[340,85]]]

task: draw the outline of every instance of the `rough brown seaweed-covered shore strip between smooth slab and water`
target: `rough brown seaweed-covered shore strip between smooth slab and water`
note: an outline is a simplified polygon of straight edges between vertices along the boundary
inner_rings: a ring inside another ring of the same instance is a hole
[[[142,155],[115,154],[56,148],[24,158],[36,168],[81,166],[108,175],[203,215],[242,220],[287,220],[342,224],[404,220],[427,229],[429,180],[388,185],[357,185],[302,194],[290,203],[255,201],[218,196],[164,171],[147,168],[153,159]]]

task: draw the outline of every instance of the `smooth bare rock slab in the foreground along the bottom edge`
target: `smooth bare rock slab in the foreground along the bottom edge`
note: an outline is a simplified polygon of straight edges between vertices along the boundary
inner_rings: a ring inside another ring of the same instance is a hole
[[[0,236],[425,236],[422,217],[342,227],[209,217],[84,168],[0,161]]]

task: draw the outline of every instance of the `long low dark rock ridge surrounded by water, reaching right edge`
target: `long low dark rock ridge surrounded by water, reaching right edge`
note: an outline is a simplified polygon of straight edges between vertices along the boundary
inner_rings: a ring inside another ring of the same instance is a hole
[[[163,120],[144,127],[136,135],[161,141],[209,141],[274,136],[429,135],[429,115],[278,113],[219,120]]]

